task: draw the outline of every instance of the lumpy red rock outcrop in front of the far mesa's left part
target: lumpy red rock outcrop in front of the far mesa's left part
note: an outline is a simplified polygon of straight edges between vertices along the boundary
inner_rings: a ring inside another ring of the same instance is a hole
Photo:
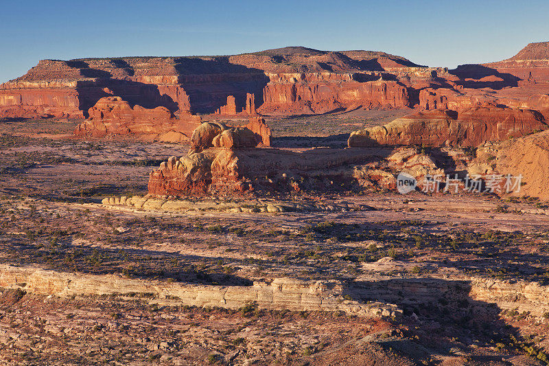
[[[159,106],[131,106],[120,97],[101,98],[89,108],[89,118],[78,125],[76,137],[99,138],[132,136],[140,139],[180,142],[188,141],[191,132],[200,125],[200,117],[180,113],[178,117]]]

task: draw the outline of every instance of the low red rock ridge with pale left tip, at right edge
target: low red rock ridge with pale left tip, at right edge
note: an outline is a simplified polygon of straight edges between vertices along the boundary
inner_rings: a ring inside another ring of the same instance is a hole
[[[548,128],[537,111],[485,104],[460,111],[421,111],[351,133],[349,147],[478,146]]]

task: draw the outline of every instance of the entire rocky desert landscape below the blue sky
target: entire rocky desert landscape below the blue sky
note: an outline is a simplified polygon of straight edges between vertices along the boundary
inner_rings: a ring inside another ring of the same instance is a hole
[[[0,86],[2,363],[548,364],[548,49],[40,61]]]

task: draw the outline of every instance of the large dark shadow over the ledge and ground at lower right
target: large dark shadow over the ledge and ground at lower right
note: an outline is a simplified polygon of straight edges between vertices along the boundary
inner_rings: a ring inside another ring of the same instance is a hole
[[[434,278],[393,278],[349,284],[346,295],[359,301],[383,301],[404,310],[409,339],[378,343],[412,358],[428,354],[469,356],[478,363],[501,362],[502,356],[478,355],[476,347],[517,350],[524,340],[517,328],[500,319],[501,308],[469,297],[468,281]],[[533,361],[535,364],[536,361]]]

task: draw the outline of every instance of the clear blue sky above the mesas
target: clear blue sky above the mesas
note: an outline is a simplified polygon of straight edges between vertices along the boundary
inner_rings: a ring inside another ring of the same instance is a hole
[[[549,1],[0,0],[0,82],[44,58],[187,56],[302,45],[428,66],[509,58],[549,41]]]

